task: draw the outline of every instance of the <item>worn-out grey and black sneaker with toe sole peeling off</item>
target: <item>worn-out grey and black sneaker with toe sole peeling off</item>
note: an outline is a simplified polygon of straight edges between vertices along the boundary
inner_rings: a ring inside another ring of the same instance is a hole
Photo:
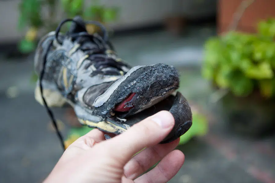
[[[60,27],[68,21],[70,29],[61,34]],[[102,36],[88,34],[86,23],[100,26]],[[179,86],[176,69],[165,64],[131,67],[117,56],[107,31],[97,22],[79,16],[62,21],[39,41],[34,67],[41,76],[35,99],[49,107],[70,104],[83,125],[120,134],[160,110],[169,110],[175,126],[162,143],[177,139],[192,125],[188,102],[179,92],[172,95]]]

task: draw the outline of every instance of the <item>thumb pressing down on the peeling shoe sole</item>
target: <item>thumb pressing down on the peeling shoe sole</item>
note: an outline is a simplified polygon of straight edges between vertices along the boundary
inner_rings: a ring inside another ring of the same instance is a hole
[[[105,141],[104,147],[112,153],[113,158],[127,163],[134,154],[145,147],[161,142],[172,130],[174,123],[174,117],[170,112],[160,111]]]

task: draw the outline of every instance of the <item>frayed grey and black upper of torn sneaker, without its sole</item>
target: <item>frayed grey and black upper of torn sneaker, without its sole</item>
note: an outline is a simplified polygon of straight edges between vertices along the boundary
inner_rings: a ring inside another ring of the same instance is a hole
[[[88,113],[125,118],[149,108],[178,88],[174,67],[165,64],[131,67],[118,58],[99,34],[87,36],[84,21],[75,17],[67,34],[51,32],[40,41],[35,70],[46,57],[44,80],[53,83],[72,105]]]

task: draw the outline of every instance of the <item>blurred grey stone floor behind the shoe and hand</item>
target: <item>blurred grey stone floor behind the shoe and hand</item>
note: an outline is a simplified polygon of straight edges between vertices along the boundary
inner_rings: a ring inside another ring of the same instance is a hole
[[[203,43],[212,35],[215,27],[191,27],[180,38],[156,31],[115,37],[113,42],[119,55],[133,66],[153,63],[176,66],[182,75],[182,93],[189,101],[212,111],[214,107],[208,102],[212,90],[200,77]],[[45,109],[34,99],[34,84],[30,82],[32,56],[0,59],[0,182],[41,182],[61,156],[62,149],[50,130]],[[13,95],[7,95],[10,87],[9,93]],[[54,113],[58,119],[65,120],[64,109],[54,109]],[[214,116],[205,137],[178,147],[186,160],[170,182],[274,183],[275,138],[237,137],[225,129],[222,117]],[[62,133],[67,131],[68,127],[64,126]]]

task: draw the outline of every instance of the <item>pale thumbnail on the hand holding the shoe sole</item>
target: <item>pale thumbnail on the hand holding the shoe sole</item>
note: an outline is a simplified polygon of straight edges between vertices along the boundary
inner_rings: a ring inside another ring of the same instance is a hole
[[[168,111],[160,111],[159,113],[156,113],[152,120],[162,128],[171,127],[174,122],[173,116]]]

